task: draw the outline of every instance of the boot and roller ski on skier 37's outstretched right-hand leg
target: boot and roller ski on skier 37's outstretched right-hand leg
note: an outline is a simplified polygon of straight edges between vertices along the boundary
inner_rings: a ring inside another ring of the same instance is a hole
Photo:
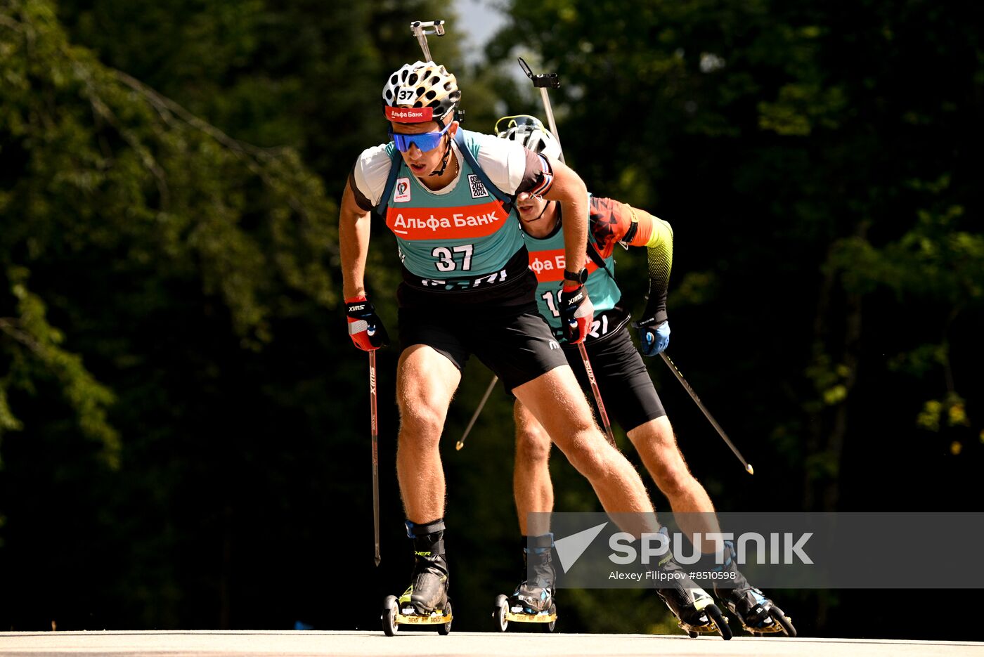
[[[667,533],[665,527],[660,533]],[[672,554],[663,557],[656,566],[660,586],[656,593],[677,618],[677,625],[691,638],[699,634],[717,632],[725,641],[731,638],[731,627],[721,610],[707,592],[694,583],[686,570],[673,559]]]

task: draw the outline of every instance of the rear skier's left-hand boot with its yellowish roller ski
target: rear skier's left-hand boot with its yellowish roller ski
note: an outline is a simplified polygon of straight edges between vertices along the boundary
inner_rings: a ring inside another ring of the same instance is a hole
[[[530,578],[529,575],[532,575]],[[513,595],[495,599],[499,631],[506,631],[510,621],[539,623],[548,632],[557,626],[557,605],[554,604],[553,534],[532,536],[523,541],[523,583]]]

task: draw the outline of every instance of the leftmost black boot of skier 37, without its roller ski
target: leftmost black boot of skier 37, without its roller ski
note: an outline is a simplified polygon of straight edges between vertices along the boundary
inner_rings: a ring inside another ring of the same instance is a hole
[[[413,580],[400,596],[400,613],[428,616],[448,605],[448,562],[444,553],[444,520],[427,524],[406,521],[413,539]]]

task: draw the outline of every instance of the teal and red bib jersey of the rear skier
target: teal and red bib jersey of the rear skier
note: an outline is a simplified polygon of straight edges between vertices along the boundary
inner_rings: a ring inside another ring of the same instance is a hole
[[[596,236],[599,232],[604,234],[603,231],[597,230],[596,223],[602,214],[600,210],[607,208],[604,204],[607,201],[607,199],[595,199],[593,196],[589,198],[590,218],[587,241],[601,256],[608,270],[595,265],[593,259],[587,259],[587,281],[584,286],[594,306],[594,323],[588,331],[587,339],[597,339],[607,335],[628,320],[628,314],[618,305],[622,298],[622,291],[615,283],[613,251],[609,245],[599,244]],[[529,269],[536,274],[536,303],[540,315],[547,320],[555,335],[563,336],[558,309],[560,290],[564,284],[564,231],[558,221],[554,231],[547,237],[537,239],[523,233],[523,241],[529,252]]]

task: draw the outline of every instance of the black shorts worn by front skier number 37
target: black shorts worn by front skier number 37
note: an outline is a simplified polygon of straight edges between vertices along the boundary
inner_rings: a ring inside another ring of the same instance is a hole
[[[400,308],[400,346],[426,344],[464,370],[470,354],[508,390],[567,365],[535,303],[520,306]]]

